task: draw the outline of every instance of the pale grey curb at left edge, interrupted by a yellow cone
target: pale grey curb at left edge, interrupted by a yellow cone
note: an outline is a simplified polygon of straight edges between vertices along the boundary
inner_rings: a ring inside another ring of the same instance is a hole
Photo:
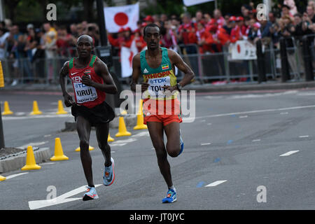
[[[21,169],[26,164],[26,157],[27,153],[22,153],[0,160],[0,174]],[[48,161],[51,157],[50,148],[39,148],[37,151],[34,151],[34,157],[36,164]]]

